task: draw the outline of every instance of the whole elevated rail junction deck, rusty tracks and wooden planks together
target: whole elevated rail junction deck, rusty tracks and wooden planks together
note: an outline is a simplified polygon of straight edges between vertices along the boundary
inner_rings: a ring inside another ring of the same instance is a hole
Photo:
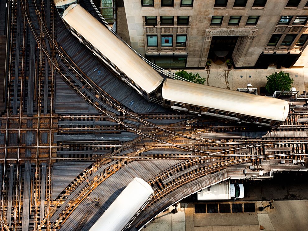
[[[90,1],[80,2],[99,19]],[[136,176],[155,192],[134,221],[138,230],[224,179],[307,170],[304,99],[290,99],[277,130],[177,114],[115,78],[66,30],[53,2],[0,7],[1,230],[88,230]]]

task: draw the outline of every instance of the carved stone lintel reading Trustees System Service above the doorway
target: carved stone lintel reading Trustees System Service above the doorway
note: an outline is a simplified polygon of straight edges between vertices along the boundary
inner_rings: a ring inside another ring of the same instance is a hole
[[[236,36],[248,36],[255,35],[258,29],[248,29],[248,28],[219,28],[219,29],[208,29],[205,32],[205,36],[226,36],[226,35],[236,35]]]

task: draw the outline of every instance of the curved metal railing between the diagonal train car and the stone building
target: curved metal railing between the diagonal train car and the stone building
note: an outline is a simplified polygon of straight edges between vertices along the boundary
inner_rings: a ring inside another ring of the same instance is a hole
[[[165,69],[157,66],[156,64],[153,64],[152,62],[150,62],[149,60],[147,60],[146,58],[144,58],[141,54],[139,54],[137,51],[135,51],[133,48],[131,48],[106,22],[106,20],[104,19],[104,17],[100,14],[100,12],[98,11],[98,9],[96,8],[95,4],[93,3],[92,0],[90,0],[94,10],[96,11],[96,13],[98,14],[98,16],[100,17],[100,19],[103,21],[104,25],[119,39],[121,40],[125,45],[127,45],[131,50],[133,50],[141,59],[143,59],[143,61],[145,61],[147,64],[149,64],[154,70],[156,70],[159,73],[162,73],[164,75],[166,75],[167,77],[170,78],[174,78],[174,79],[179,79],[179,80],[183,80],[183,81],[187,81],[187,82],[192,82],[190,80],[187,80],[185,78],[182,78],[178,75],[175,75],[174,73],[171,73],[169,71],[166,71]]]

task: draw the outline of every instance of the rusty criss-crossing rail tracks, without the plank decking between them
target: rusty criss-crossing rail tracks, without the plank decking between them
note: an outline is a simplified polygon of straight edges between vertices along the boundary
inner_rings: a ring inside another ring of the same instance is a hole
[[[58,46],[52,2],[23,0],[10,7],[9,100],[0,118],[1,228],[61,229],[92,191],[138,161],[179,162],[147,179],[156,196],[136,220],[135,226],[142,227],[175,202],[167,199],[171,194],[211,173],[239,163],[286,159],[292,164],[306,157],[302,135],[307,111],[289,114],[276,133],[174,112],[136,113],[98,86]],[[54,114],[55,74],[101,115]],[[84,141],[78,136],[94,138]],[[53,164],[90,160],[93,163],[52,200]],[[293,167],[302,166],[296,162]]]

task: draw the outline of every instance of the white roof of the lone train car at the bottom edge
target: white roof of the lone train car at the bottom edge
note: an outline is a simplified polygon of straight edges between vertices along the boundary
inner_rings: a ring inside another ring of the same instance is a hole
[[[135,177],[89,231],[122,230],[153,193],[147,182]]]

